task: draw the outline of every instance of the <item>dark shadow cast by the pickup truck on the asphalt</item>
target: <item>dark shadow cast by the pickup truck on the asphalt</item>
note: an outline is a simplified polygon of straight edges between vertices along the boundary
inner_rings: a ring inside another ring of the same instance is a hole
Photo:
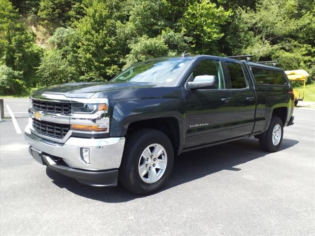
[[[291,148],[298,143],[296,140],[283,139],[279,151]],[[175,158],[172,175],[165,186],[158,192],[222,170],[242,171],[242,169],[235,166],[268,154],[269,152],[262,151],[259,148],[258,140],[254,138],[183,153]],[[75,179],[65,177],[49,168],[46,169],[46,173],[53,183],[60,188],[66,188],[74,194],[97,201],[121,203],[147,197],[132,194],[120,184],[117,187],[108,188],[91,187],[81,184]]]

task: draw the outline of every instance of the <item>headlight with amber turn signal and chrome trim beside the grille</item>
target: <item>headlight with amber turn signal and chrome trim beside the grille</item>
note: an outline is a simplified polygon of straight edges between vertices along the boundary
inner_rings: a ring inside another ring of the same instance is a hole
[[[83,101],[84,100],[84,101]],[[88,101],[89,103],[86,103]],[[95,103],[93,103],[95,102]],[[80,132],[109,132],[107,99],[80,99],[71,103],[71,129]]]

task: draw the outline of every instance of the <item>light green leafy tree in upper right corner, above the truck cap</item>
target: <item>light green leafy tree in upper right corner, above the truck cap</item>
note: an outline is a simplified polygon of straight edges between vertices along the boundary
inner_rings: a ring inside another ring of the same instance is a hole
[[[303,4],[302,4],[303,3]],[[279,60],[285,70],[310,71],[315,80],[315,3],[305,0],[259,0],[255,11],[242,10],[253,33],[243,52],[256,59]]]

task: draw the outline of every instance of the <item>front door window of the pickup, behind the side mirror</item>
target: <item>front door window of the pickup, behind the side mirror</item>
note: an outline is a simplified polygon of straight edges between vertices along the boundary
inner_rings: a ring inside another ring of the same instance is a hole
[[[215,75],[218,78],[218,87],[214,89],[225,89],[222,66],[219,60],[201,60],[192,72],[193,79],[200,75]]]

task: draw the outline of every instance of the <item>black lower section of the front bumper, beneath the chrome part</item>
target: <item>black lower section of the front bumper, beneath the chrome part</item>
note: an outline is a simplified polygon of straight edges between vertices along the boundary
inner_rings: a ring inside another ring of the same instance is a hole
[[[58,164],[58,158],[49,156],[40,150],[30,147],[29,152],[32,157],[42,165],[63,174],[64,176],[75,178],[77,181],[92,186],[117,186],[118,169],[106,171],[88,171],[70,168],[66,165]]]

